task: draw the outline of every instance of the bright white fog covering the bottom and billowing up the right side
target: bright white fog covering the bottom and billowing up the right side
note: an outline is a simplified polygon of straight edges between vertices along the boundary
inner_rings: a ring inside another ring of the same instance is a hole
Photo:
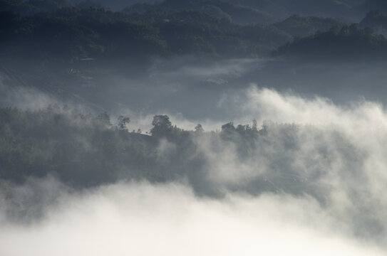
[[[237,113],[227,122],[255,118],[259,137],[249,144],[225,131],[197,134],[175,181],[82,190],[50,176],[4,181],[1,255],[386,254],[382,103],[336,104],[257,85],[221,98],[217,105],[232,102]],[[133,125],[150,117],[138,114]],[[222,124],[171,119],[185,129]],[[166,169],[179,170],[178,143],[158,141]]]

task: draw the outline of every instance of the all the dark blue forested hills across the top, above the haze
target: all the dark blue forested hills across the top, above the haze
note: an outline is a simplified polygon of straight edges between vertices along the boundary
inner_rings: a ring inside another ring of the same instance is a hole
[[[104,63],[174,55],[257,58],[272,53],[372,58],[385,51],[383,37],[376,35],[386,26],[384,1],[166,0],[122,11],[111,11],[109,2],[0,0],[0,58],[34,63],[92,58]],[[123,3],[133,1],[110,4],[117,9]],[[376,7],[381,11],[362,12]],[[365,15],[360,28],[349,26],[354,17]]]

